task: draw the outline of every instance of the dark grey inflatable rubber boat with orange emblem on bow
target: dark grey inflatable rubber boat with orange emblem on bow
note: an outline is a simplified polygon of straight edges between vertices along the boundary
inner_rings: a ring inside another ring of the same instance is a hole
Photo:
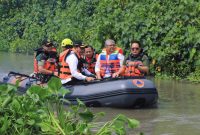
[[[40,85],[35,78],[15,72],[10,72],[3,78],[3,83],[14,84],[19,80],[19,92],[25,93],[32,85]],[[15,80],[15,81],[14,81]],[[71,91],[64,96],[72,104],[77,104],[77,98],[86,106],[93,107],[155,107],[158,92],[154,83],[144,77],[116,78],[63,86]]]

